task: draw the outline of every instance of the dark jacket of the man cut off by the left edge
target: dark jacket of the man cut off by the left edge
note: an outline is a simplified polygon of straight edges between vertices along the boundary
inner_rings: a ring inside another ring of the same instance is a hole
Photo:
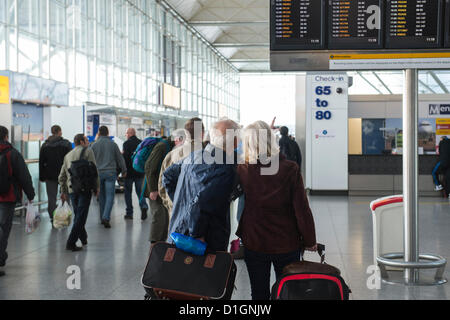
[[[35,197],[33,182],[28,167],[22,155],[8,142],[0,142],[0,152],[9,149],[6,156],[10,176],[12,177],[11,189],[8,193],[0,195],[0,202],[16,203],[22,201],[22,190],[32,201]]]

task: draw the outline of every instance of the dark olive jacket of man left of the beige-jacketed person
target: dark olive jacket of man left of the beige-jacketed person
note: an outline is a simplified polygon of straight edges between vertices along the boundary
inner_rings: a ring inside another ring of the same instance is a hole
[[[161,141],[153,148],[147,162],[145,162],[145,197],[149,198],[151,192],[158,191],[162,163],[174,146],[175,144],[172,141]]]

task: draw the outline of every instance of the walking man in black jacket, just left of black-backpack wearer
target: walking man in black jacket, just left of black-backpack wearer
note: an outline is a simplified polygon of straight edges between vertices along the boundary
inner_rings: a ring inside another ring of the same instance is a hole
[[[45,183],[48,199],[48,215],[53,226],[53,212],[57,208],[58,176],[64,157],[72,150],[72,144],[62,137],[60,126],[53,126],[52,136],[42,145],[39,154],[39,180]]]

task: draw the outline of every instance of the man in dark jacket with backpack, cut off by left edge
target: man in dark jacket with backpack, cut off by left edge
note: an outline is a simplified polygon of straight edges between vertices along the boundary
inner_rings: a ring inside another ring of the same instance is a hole
[[[35,192],[28,167],[22,155],[8,142],[9,131],[0,126],[0,277],[5,276],[6,252],[16,203],[22,201],[22,190],[28,201]]]

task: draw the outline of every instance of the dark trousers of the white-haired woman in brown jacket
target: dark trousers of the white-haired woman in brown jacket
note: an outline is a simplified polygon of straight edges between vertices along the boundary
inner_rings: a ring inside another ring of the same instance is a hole
[[[270,273],[272,264],[277,279],[287,265],[300,261],[301,251],[286,254],[265,254],[245,249],[245,264],[250,276],[253,300],[270,300]]]

